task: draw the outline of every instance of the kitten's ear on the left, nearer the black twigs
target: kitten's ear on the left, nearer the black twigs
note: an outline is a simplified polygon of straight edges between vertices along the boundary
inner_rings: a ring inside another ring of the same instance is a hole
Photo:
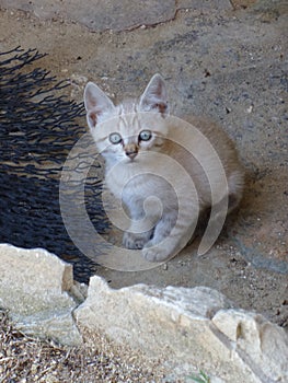
[[[91,129],[95,128],[100,116],[115,108],[110,97],[93,82],[89,82],[85,86],[84,105],[88,125]]]

